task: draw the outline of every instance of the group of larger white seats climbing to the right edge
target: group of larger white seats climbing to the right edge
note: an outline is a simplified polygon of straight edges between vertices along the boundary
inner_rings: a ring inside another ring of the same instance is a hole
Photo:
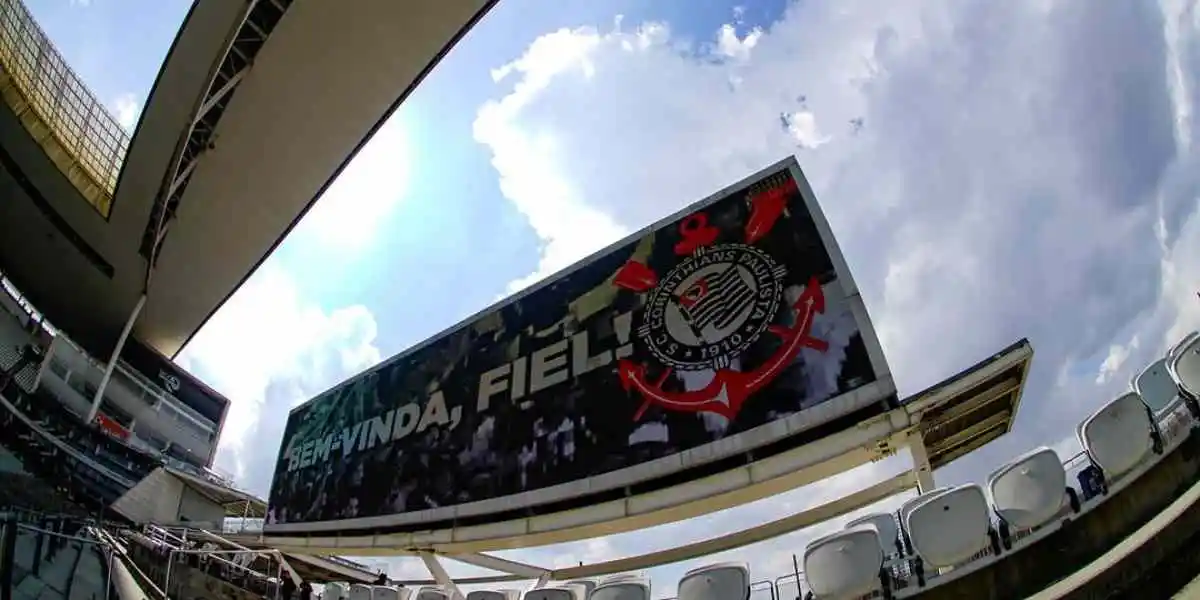
[[[1076,428],[1088,466],[1080,492],[1067,481],[1058,455],[1039,448],[977,484],[932,490],[907,500],[896,514],[866,515],[842,532],[809,544],[804,574],[809,598],[890,596],[898,572],[926,584],[925,571],[944,572],[977,558],[1013,548],[1014,534],[1045,528],[1078,515],[1084,502],[1103,502],[1115,486],[1128,485],[1162,455],[1166,443],[1195,422],[1200,392],[1200,335],[1171,348],[1138,378],[1132,390],[1088,415]],[[1187,414],[1172,409],[1183,404]],[[1163,427],[1170,427],[1164,439]],[[1178,427],[1176,427],[1178,426]],[[907,569],[895,569],[900,559]],[[890,566],[890,568],[889,568]],[[680,595],[680,600],[684,596]]]

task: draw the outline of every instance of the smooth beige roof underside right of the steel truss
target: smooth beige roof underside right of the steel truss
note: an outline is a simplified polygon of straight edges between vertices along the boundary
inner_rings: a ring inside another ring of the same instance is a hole
[[[272,22],[220,118],[188,142],[181,164],[194,166],[167,204],[138,337],[178,353],[491,5],[296,2]]]

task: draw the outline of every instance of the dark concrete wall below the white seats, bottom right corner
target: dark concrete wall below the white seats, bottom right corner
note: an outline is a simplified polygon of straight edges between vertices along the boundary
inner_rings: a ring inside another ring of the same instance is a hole
[[[1111,496],[1108,502],[1100,504],[1091,512],[1079,520],[1064,526],[1062,529],[1048,535],[1043,540],[1015,551],[1003,560],[989,565],[985,569],[972,572],[960,580],[937,586],[916,598],[922,600],[950,600],[970,598],[972,600],[1010,600],[1028,598],[1054,582],[1082,569],[1092,560],[1099,558],[1109,548],[1116,546],[1130,534],[1146,524],[1171,502],[1182,496],[1194,482],[1200,480],[1200,436],[1193,434],[1183,442],[1175,451],[1163,457],[1162,462],[1145,473],[1138,481],[1121,492]],[[1171,550],[1180,547],[1183,539],[1190,538],[1192,532],[1200,527],[1200,511],[1189,511],[1186,520],[1195,521],[1190,527],[1181,528],[1169,536],[1160,536],[1154,540],[1148,554],[1136,553],[1130,557],[1129,564],[1118,565],[1110,569],[1104,581],[1093,581],[1084,586],[1068,599],[1084,598],[1110,598],[1117,590],[1112,584],[1138,581],[1139,569],[1156,563],[1156,558],[1163,558]],[[1195,548],[1196,546],[1190,546]],[[1195,562],[1200,563],[1200,553],[1194,554]],[[1141,556],[1139,559],[1138,556]],[[1136,563],[1136,564],[1135,564]],[[1189,571],[1192,576],[1195,571]],[[1188,576],[1190,578],[1190,576]],[[1184,580],[1187,581],[1187,580]],[[1168,588],[1171,582],[1158,582]],[[1150,593],[1138,586],[1129,588],[1133,590],[1130,598],[1157,599],[1170,598],[1171,593],[1182,584],[1170,588],[1165,594]]]

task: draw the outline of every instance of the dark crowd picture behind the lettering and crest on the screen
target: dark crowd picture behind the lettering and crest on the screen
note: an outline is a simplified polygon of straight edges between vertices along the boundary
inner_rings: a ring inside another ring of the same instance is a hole
[[[648,241],[631,242],[596,258],[294,412],[284,444],[337,437],[404,403],[418,403],[422,412],[427,410],[434,394],[457,416],[415,427],[401,440],[344,455],[330,452],[328,460],[299,470],[289,470],[288,460],[281,456],[271,491],[271,522],[392,515],[566,484],[716,442],[874,382],[866,340],[828,251],[803,199],[793,194],[790,206],[755,245],[775,257],[786,274],[770,323],[793,326],[798,318],[793,304],[815,278],[824,292],[824,311],[812,317],[810,332],[828,347],[802,349],[732,419],[646,403],[622,383],[614,360],[580,374],[572,371],[564,382],[520,398],[494,396],[486,410],[476,409],[482,373],[500,365],[517,365],[514,361],[548,344],[574,342],[580,334],[586,335],[589,355],[612,353],[631,343],[631,360],[648,365],[648,373],[662,377],[670,389],[685,392],[706,388],[718,365],[665,371],[654,365],[629,325],[624,331],[617,325],[622,316],[641,313],[646,295],[614,288],[614,274],[634,258],[656,272],[668,272],[679,260],[672,250],[679,233],[668,227],[648,234]],[[706,211],[709,222],[720,227],[721,240],[743,239],[749,220],[743,196],[733,194]],[[754,368],[779,346],[775,336],[762,335],[719,366],[732,371]],[[569,364],[571,359],[565,360]]]

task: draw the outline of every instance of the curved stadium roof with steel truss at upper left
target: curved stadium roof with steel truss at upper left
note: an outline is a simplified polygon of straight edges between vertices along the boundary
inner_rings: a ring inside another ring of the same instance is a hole
[[[0,240],[0,269],[101,356],[148,289],[134,336],[174,356],[493,4],[194,1],[108,218],[6,91],[0,188],[18,202],[0,222],[20,227]]]

